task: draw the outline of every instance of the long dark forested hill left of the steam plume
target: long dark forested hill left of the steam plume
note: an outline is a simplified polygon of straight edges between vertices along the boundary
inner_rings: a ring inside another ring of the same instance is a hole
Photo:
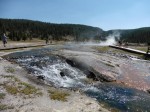
[[[24,19],[0,19],[0,34],[7,32],[11,40],[32,38],[53,40],[99,40],[102,29],[80,24],[54,24]],[[65,38],[69,36],[70,38]]]

